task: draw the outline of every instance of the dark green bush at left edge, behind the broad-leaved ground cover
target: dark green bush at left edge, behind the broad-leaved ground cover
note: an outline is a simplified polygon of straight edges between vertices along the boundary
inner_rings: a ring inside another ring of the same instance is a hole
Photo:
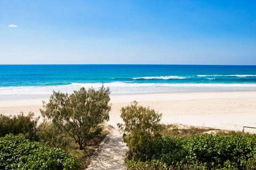
[[[0,115],[0,136],[5,136],[9,133],[22,133],[27,139],[38,140],[36,135],[38,119],[39,117],[34,118],[33,112],[29,112],[27,116],[24,116],[22,112],[17,116]]]

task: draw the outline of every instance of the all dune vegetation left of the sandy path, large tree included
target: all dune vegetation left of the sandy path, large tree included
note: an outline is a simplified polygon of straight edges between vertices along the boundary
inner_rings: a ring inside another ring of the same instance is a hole
[[[43,103],[44,122],[33,113],[0,116],[0,169],[84,169],[106,136],[109,88],[53,92]]]

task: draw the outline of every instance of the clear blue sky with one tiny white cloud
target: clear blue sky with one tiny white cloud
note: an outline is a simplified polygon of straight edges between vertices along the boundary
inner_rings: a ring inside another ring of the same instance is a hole
[[[0,64],[256,64],[256,1],[0,0]]]

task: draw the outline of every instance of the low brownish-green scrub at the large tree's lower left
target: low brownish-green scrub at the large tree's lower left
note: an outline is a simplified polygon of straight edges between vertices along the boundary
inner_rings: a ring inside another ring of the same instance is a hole
[[[43,122],[38,126],[39,142],[55,148],[67,150],[71,139],[51,122]]]

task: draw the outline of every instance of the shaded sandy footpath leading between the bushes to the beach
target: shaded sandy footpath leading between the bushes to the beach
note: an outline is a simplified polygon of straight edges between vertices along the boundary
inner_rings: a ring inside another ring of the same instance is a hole
[[[94,152],[86,170],[126,169],[124,159],[127,151],[128,147],[123,142],[122,134],[113,127],[100,144],[99,149]]]

